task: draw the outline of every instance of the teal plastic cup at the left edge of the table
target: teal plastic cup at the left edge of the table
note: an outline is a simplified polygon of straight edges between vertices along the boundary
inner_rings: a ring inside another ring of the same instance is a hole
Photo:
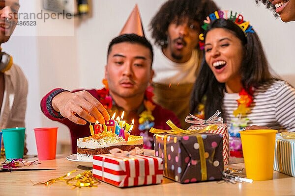
[[[6,159],[22,159],[25,143],[24,127],[1,129]]]

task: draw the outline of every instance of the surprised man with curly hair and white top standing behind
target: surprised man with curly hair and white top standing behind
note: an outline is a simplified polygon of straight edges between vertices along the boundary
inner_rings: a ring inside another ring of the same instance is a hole
[[[212,0],[168,0],[150,22],[155,49],[154,100],[184,122],[202,52],[198,49],[201,25],[218,7]]]

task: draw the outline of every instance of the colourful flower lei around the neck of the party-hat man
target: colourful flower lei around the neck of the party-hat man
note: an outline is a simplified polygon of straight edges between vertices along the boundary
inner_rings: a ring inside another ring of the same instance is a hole
[[[99,96],[98,100],[101,104],[106,108],[106,110],[110,113],[113,113],[113,105],[115,104],[113,98],[109,94],[108,83],[106,79],[103,79],[102,83],[105,85],[105,88],[101,90],[97,90],[97,94]],[[152,111],[155,109],[156,105],[152,101],[153,89],[149,86],[145,91],[145,99],[144,106],[145,109],[142,113],[139,114],[138,118],[138,130],[141,131],[140,135],[144,136],[144,148],[151,148],[153,139],[148,136],[149,129],[155,124],[154,116],[152,115]]]

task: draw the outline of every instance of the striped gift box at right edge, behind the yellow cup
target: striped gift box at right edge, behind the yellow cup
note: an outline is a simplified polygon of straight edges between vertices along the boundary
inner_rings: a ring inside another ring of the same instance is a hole
[[[295,177],[295,139],[283,139],[277,134],[275,141],[273,169]]]

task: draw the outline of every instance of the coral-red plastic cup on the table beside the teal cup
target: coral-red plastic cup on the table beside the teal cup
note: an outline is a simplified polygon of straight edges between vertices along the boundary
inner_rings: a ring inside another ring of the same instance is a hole
[[[58,127],[34,128],[39,160],[56,158]]]

